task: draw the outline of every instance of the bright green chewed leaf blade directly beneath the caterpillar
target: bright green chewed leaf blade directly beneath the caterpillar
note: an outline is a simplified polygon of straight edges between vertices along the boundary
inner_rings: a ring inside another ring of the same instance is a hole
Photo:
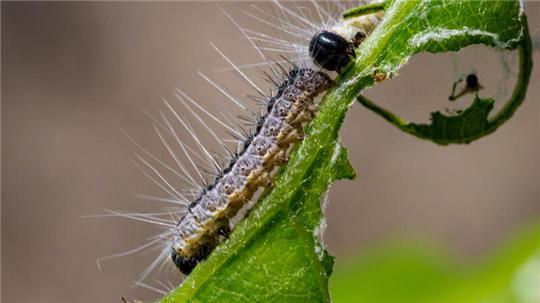
[[[518,19],[519,4],[510,1],[389,3],[381,24],[357,50],[357,60],[323,98],[274,188],[162,302],[330,302],[332,258],[319,241],[320,203],[331,182],[355,175],[338,138],[347,110],[374,83],[375,72],[391,76],[417,51],[516,44],[522,30]],[[504,32],[490,38],[469,30],[441,34],[446,28],[495,32],[501,24]]]

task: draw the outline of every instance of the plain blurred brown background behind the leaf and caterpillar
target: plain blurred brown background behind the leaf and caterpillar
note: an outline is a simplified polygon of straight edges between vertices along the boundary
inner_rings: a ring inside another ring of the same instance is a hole
[[[527,3],[533,35],[539,4]],[[240,21],[249,9],[222,6]],[[257,60],[214,3],[2,2],[2,302],[157,297],[132,287],[152,254],[105,261],[101,272],[95,262],[142,244],[155,229],[81,216],[158,207],[132,196],[159,191],[129,161],[136,147],[119,130],[166,158],[141,109],[158,113],[176,87],[206,107],[224,107],[196,75],[231,78],[213,72],[226,64],[209,41],[239,63]],[[509,93],[511,80],[506,89],[498,85],[500,53],[459,55],[417,56],[368,95],[426,121],[430,111],[450,107],[451,84],[468,71],[479,73],[482,94]],[[472,262],[537,219],[539,76],[536,68],[526,102],[508,123],[468,146],[421,141],[355,105],[342,142],[359,177],[336,183],[327,209],[326,243],[337,262],[403,234],[435,239]],[[242,95],[234,80],[228,87]]]

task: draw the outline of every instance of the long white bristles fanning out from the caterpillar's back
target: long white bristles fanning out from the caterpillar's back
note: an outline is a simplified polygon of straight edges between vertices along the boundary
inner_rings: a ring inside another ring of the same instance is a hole
[[[240,31],[244,41],[247,39],[250,46],[255,49],[262,61],[237,64],[224,51],[210,42],[210,46],[227,64],[226,68],[215,71],[229,71],[240,76],[241,81],[255,92],[256,96],[252,97],[252,99],[261,102],[261,100],[268,100],[269,94],[265,93],[265,91],[274,94],[277,92],[277,87],[267,90],[261,88],[247,75],[245,69],[265,68],[267,71],[265,74],[266,80],[270,83],[278,83],[283,80],[284,75],[288,72],[283,66],[287,66],[287,68],[289,66],[309,67],[318,70],[319,68],[312,63],[309,57],[309,42],[314,34],[338,22],[339,14],[335,13],[342,12],[344,6],[339,2],[327,4],[315,0],[310,0],[306,5],[300,6],[297,3],[281,3],[274,0],[274,13],[270,13],[257,5],[251,5],[251,11],[243,11],[245,16],[266,26],[273,31],[272,33],[244,27],[231,14],[218,6],[232,25]],[[269,53],[279,54],[278,59],[271,58]],[[232,91],[229,91],[225,86],[211,79],[205,73],[199,71],[198,74],[209,86],[225,97],[227,105],[232,105],[234,109],[242,112],[241,120],[246,126],[253,127],[257,124],[257,118],[262,115],[260,112],[263,111],[251,109],[242,102],[242,98],[235,96]],[[238,122],[237,115],[233,115],[232,111],[227,107],[220,111],[207,109],[201,105],[202,103],[196,101],[181,89],[175,90],[174,97],[178,102],[171,103],[163,99],[165,110],[159,111],[159,116],[144,111],[153,123],[154,132],[157,139],[159,139],[161,149],[167,152],[167,160],[160,159],[156,153],[150,152],[147,147],[143,147],[124,132],[128,139],[141,151],[140,154],[135,154],[131,158],[132,162],[152,183],[164,192],[163,197],[146,194],[135,194],[135,196],[163,203],[166,207],[159,211],[147,213],[107,211],[107,214],[101,215],[101,217],[122,217],[149,223],[156,226],[159,233],[149,237],[146,243],[138,247],[96,260],[98,267],[101,268],[101,262],[104,260],[146,250],[158,250],[157,256],[144,269],[136,285],[160,294],[170,292],[173,288],[172,285],[167,287],[165,284],[160,283],[160,286],[165,289],[164,291],[143,283],[142,280],[151,272],[159,271],[168,264],[166,261],[170,256],[170,241],[176,232],[176,222],[186,212],[187,206],[201,192],[206,190],[205,188],[208,186],[207,177],[222,174],[224,168],[223,165],[220,165],[220,162],[228,163],[232,157],[236,156],[246,138],[249,138],[253,132],[252,129],[243,128]],[[181,107],[182,110],[180,111],[175,107]],[[264,109],[266,110],[266,108]],[[193,122],[193,124],[190,122]],[[217,124],[220,130],[212,129],[210,122]],[[208,144],[203,142],[203,136],[197,133],[196,130],[213,138],[215,143],[219,145],[220,152],[216,154],[210,150]],[[222,138],[221,133],[229,134],[230,138]],[[187,142],[182,139],[186,137],[188,138]],[[223,152],[227,155],[222,156]],[[170,176],[174,180],[171,180]]]

